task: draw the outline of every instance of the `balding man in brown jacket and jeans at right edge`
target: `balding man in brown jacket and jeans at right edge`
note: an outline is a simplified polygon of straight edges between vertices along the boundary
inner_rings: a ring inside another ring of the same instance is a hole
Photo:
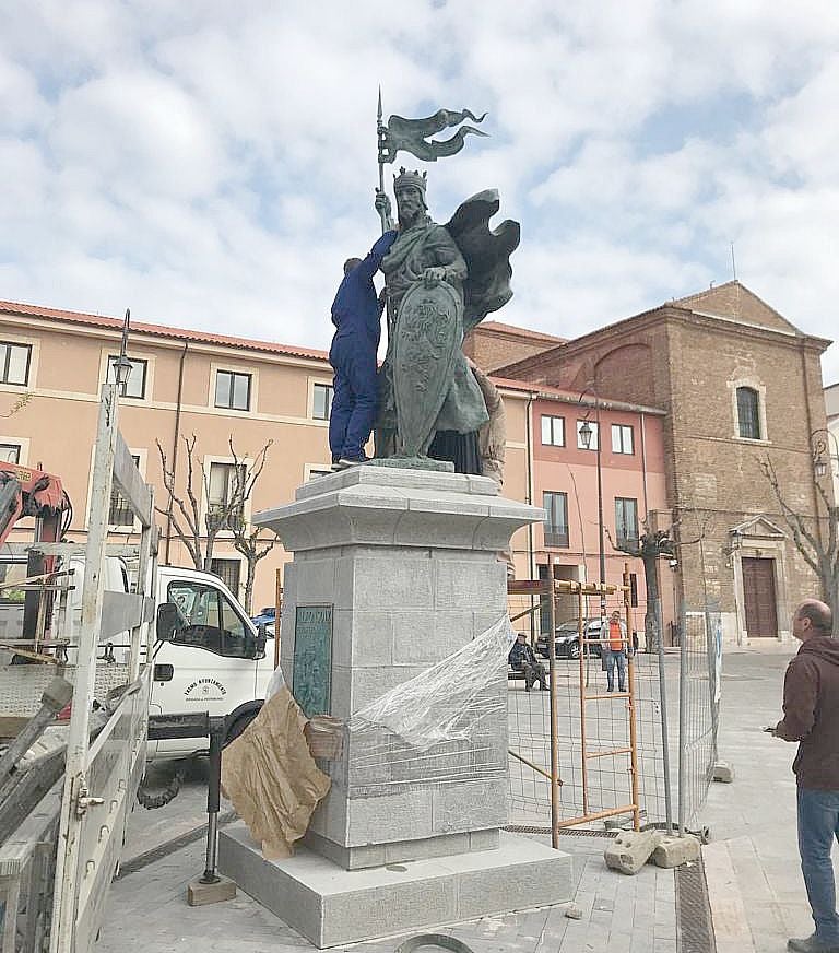
[[[830,609],[806,599],[792,617],[801,648],[787,668],[776,738],[797,741],[799,854],[816,931],[790,940],[796,953],[839,953],[839,915],[830,849],[839,838],[839,639]]]

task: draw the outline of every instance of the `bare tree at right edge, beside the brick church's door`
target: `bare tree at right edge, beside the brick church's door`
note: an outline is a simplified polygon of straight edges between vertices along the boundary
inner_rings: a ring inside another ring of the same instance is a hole
[[[814,460],[814,463],[818,462],[819,459]],[[816,513],[808,516],[790,506],[771,459],[766,457],[759,463],[772,495],[781,508],[781,516],[790,530],[795,549],[816,574],[822,589],[822,600],[827,602],[834,614],[834,636],[839,637],[839,538],[837,534],[839,506],[834,504],[827,489],[830,468],[825,479],[814,481]]]

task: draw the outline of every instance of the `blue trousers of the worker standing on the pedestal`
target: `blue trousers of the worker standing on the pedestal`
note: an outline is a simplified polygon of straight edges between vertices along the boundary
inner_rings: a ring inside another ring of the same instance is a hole
[[[370,438],[378,409],[376,352],[371,346],[359,348],[353,339],[338,338],[329,360],[335,370],[329,448],[333,459],[355,459]]]

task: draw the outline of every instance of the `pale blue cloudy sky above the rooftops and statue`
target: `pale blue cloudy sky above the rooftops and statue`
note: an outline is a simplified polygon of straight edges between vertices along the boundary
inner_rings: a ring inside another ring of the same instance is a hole
[[[0,298],[328,346],[380,83],[386,118],[488,111],[428,198],[522,223],[499,320],[575,337],[728,281],[733,242],[839,337],[838,51],[836,0],[4,3]]]

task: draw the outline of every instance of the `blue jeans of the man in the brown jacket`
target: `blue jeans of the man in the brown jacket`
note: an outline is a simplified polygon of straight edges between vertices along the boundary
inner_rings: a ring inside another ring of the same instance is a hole
[[[839,839],[839,791],[799,788],[799,854],[801,872],[813,910],[816,937],[839,946],[836,882],[830,850]]]

